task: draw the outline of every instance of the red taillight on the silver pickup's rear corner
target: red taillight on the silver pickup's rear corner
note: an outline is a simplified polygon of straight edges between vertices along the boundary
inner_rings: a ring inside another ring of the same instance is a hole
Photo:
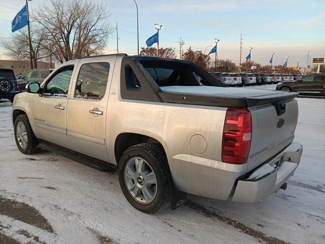
[[[222,162],[245,164],[252,137],[252,118],[246,108],[228,108],[222,134]]]

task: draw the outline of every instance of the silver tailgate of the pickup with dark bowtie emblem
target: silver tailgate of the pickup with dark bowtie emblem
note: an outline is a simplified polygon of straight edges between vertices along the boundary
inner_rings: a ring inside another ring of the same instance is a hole
[[[281,104],[285,109],[277,111]],[[247,160],[248,171],[266,162],[293,142],[298,119],[295,99],[249,108],[252,116],[252,139]]]

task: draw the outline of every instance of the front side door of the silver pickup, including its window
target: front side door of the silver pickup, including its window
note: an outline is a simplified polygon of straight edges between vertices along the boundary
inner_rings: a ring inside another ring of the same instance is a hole
[[[73,66],[55,72],[33,101],[33,119],[40,139],[70,148],[67,135],[68,92]]]

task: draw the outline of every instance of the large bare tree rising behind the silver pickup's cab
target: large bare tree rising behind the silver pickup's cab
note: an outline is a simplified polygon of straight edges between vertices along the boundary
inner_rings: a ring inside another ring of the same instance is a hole
[[[43,26],[56,59],[63,63],[73,58],[100,54],[106,48],[113,28],[104,4],[89,0],[51,0],[37,9],[32,18]]]

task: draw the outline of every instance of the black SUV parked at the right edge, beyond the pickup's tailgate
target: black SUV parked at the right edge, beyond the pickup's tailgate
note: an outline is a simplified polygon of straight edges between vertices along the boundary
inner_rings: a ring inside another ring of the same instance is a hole
[[[325,74],[306,75],[295,81],[279,82],[277,90],[286,92],[297,92],[302,95],[321,95],[325,96]]]

